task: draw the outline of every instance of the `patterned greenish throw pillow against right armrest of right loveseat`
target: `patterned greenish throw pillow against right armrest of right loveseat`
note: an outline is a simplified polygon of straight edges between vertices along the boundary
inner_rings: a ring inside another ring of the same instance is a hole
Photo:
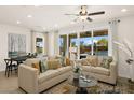
[[[110,68],[110,63],[112,62],[112,60],[113,60],[112,57],[108,56],[108,57],[103,59],[100,66],[103,68],[109,69]]]

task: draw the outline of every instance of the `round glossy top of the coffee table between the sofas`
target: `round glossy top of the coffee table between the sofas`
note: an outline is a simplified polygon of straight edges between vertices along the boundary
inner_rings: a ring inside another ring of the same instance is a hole
[[[94,77],[88,77],[86,80],[79,77],[79,80],[75,80],[73,76],[71,75],[68,77],[68,83],[76,87],[85,87],[86,88],[86,87],[96,86],[97,80]]]

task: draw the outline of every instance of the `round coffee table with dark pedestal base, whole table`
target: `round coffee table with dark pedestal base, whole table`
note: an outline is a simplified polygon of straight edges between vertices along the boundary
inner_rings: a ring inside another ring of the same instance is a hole
[[[94,77],[88,77],[86,80],[81,77],[76,80],[73,78],[73,76],[69,76],[68,83],[77,87],[76,94],[88,94],[86,88],[96,86],[97,80],[95,80]]]

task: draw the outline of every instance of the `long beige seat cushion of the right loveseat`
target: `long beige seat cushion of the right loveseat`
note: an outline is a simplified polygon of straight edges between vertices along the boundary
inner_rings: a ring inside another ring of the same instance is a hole
[[[97,74],[103,74],[103,75],[110,75],[110,71],[106,68],[102,68],[102,67],[88,67],[88,66],[83,66],[82,69],[84,71],[89,71],[92,73],[97,73]]]

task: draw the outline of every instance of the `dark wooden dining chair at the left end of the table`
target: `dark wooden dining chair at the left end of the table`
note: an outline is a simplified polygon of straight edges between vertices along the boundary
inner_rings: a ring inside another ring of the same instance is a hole
[[[6,63],[5,76],[9,77],[10,73],[12,74],[13,70],[15,70],[15,72],[17,72],[17,65],[13,63],[13,61],[11,59],[4,59],[4,61]]]

